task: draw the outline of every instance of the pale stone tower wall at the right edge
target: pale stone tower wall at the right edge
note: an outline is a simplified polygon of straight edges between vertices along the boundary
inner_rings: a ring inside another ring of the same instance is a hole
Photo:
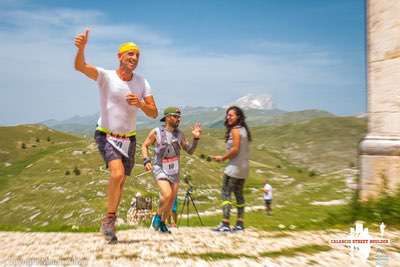
[[[360,198],[400,187],[400,1],[367,0],[368,134],[360,143]]]

